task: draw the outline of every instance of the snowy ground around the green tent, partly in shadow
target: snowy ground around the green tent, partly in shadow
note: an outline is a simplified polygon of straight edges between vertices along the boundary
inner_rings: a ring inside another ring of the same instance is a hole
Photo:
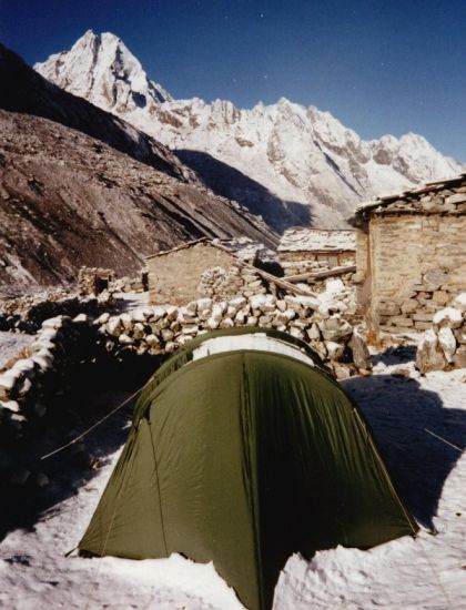
[[[466,609],[466,456],[433,436],[465,448],[466,370],[419,378],[412,356],[409,349],[376,356],[376,375],[344,385],[373,426],[421,533],[371,551],[337,548],[311,561],[293,556],[275,590],[275,610]],[[63,557],[91,518],[126,420],[128,413],[88,440],[102,459],[95,476],[78,476],[57,489],[45,510],[32,511],[27,528],[7,533],[0,545],[0,607],[242,608],[211,565],[179,556],[146,561]]]

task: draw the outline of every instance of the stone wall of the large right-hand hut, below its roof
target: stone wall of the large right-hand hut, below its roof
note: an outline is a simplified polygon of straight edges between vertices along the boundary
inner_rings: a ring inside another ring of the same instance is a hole
[[[425,329],[436,311],[466,289],[465,215],[374,215],[368,263],[361,243],[375,329]]]

